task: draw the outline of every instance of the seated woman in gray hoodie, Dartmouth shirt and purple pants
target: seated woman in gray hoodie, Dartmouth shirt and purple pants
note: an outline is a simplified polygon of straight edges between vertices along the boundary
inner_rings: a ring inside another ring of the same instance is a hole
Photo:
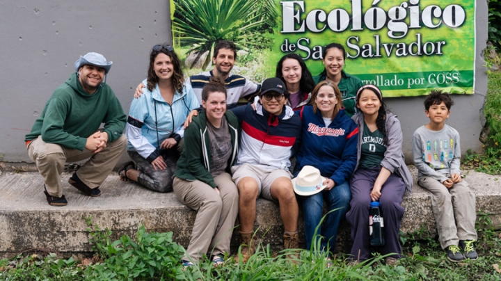
[[[351,256],[362,262],[371,256],[369,245],[369,205],[381,203],[385,245],[377,250],[387,264],[401,257],[399,229],[404,216],[401,201],[406,190],[412,191],[413,179],[401,150],[403,137],[396,115],[386,111],[381,90],[365,85],[356,94],[360,113],[353,116],[358,125],[357,165],[351,177],[351,202],[347,220],[351,225]]]

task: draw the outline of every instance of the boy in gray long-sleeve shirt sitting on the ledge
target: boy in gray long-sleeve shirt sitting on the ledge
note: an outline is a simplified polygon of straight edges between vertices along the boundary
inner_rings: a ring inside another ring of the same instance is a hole
[[[440,246],[448,259],[460,262],[465,257],[477,259],[473,245],[477,232],[475,193],[463,181],[459,169],[459,134],[445,125],[452,104],[450,95],[440,90],[431,91],[424,100],[424,112],[430,122],[413,134],[413,160],[419,170],[417,184],[432,194]]]

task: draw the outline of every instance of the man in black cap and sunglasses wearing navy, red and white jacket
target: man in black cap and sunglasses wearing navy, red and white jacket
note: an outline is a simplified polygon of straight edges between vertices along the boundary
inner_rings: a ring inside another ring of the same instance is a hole
[[[262,83],[259,102],[232,109],[241,127],[241,142],[233,181],[239,189],[241,254],[248,259],[254,252],[253,228],[256,199],[261,196],[278,202],[284,224],[284,248],[298,248],[298,204],[289,172],[293,148],[301,138],[301,120],[287,106],[289,93],[282,80]]]

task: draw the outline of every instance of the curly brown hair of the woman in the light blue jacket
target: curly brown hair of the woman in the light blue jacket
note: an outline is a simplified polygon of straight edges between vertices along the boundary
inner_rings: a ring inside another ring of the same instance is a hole
[[[177,92],[182,92],[183,84],[184,84],[184,75],[181,68],[181,60],[177,56],[174,51],[174,48],[171,45],[163,44],[163,45],[154,45],[151,53],[150,53],[150,67],[148,67],[148,85],[146,86],[148,90],[152,91],[159,81],[157,74],[154,72],[154,60],[157,58],[159,54],[166,54],[170,57],[170,60],[173,63],[174,73],[172,76],[173,87]]]

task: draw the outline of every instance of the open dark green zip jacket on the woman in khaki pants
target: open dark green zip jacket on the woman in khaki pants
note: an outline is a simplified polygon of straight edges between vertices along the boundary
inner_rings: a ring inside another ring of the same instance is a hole
[[[229,172],[238,152],[238,120],[231,111],[225,112],[225,118],[228,120],[232,142],[232,155],[226,167]],[[187,181],[198,179],[212,188],[217,187],[209,172],[210,167],[207,167],[207,163],[211,160],[210,147],[207,117],[205,111],[201,111],[184,131],[184,150],[177,160],[175,176]]]

